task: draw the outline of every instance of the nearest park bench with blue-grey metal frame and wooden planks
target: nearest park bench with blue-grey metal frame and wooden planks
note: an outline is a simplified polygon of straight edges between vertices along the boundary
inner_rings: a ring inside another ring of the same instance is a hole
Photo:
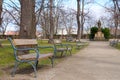
[[[8,38],[14,51],[15,65],[12,70],[12,76],[15,75],[17,66],[20,63],[28,63],[33,67],[35,77],[37,77],[37,65],[38,61],[49,58],[53,67],[54,54],[45,53],[40,54],[40,48],[52,48],[52,46],[38,46],[36,39],[11,39]]]

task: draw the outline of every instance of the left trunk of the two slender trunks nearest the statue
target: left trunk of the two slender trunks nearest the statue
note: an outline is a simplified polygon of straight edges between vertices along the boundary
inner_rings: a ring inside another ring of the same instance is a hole
[[[78,25],[78,30],[77,30],[77,39],[81,38],[80,35],[80,0],[77,0],[77,25]]]

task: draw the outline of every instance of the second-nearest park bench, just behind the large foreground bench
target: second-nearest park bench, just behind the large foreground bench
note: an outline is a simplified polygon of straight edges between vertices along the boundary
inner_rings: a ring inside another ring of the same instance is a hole
[[[72,45],[71,44],[63,44],[61,40],[55,39],[53,41],[54,49],[55,49],[55,56],[57,53],[61,53],[61,56],[64,54],[66,56],[67,52],[72,55]]]

